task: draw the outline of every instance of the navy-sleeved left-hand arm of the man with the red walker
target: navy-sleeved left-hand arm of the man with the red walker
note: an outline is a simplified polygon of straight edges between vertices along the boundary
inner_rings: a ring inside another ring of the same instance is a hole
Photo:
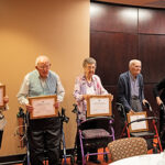
[[[127,113],[133,111],[125,98],[125,84],[123,77],[121,76],[119,77],[118,80],[118,102],[123,105]]]

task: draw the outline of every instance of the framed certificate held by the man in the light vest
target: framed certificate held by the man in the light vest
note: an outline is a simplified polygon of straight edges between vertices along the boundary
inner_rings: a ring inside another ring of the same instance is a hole
[[[29,97],[30,105],[33,106],[33,111],[30,113],[31,119],[51,118],[58,116],[58,109],[55,109],[57,97],[40,96]]]

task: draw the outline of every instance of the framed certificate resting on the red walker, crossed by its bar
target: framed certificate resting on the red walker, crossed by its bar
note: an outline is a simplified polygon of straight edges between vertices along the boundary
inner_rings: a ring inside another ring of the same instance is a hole
[[[143,120],[146,118],[146,112],[135,112],[135,113],[128,113],[128,122],[133,122],[135,120],[141,120],[139,122],[133,122],[129,125],[130,132],[142,132],[148,131],[148,122],[147,120]]]

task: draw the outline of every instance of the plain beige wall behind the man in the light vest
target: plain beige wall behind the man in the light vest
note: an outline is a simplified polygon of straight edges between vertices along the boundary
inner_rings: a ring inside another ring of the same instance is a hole
[[[70,118],[65,124],[66,145],[73,147],[73,88],[75,77],[82,72],[82,59],[89,56],[89,0],[0,0],[0,81],[10,98],[1,156],[23,153],[14,136],[19,108],[15,96],[40,54],[51,58],[52,70],[65,87],[63,107]]]

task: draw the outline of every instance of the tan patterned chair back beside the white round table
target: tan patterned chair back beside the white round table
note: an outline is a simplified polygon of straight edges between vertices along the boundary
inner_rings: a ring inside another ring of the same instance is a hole
[[[108,144],[111,161],[147,154],[147,144],[143,138],[124,138]]]

